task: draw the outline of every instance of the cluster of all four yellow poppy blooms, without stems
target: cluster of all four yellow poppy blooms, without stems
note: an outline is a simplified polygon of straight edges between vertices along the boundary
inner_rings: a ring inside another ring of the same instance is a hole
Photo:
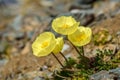
[[[92,31],[88,27],[79,26],[72,16],[61,16],[53,20],[52,28],[60,34],[67,35],[75,46],[84,46],[91,40]],[[35,56],[47,56],[51,52],[59,53],[63,48],[63,38],[55,38],[51,32],[41,33],[32,44]]]

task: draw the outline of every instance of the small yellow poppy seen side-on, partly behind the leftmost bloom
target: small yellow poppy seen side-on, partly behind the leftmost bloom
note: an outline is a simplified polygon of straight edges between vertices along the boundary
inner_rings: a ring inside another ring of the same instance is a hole
[[[63,38],[62,37],[57,38],[56,39],[56,46],[53,50],[53,53],[59,53],[63,48],[63,44],[64,44]]]

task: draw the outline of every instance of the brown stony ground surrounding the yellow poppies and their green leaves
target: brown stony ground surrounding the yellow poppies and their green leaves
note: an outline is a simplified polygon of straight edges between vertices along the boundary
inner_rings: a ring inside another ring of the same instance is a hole
[[[120,51],[119,0],[21,0],[16,8],[18,3],[12,6],[11,4],[13,3],[0,6],[0,80],[44,80],[43,76],[51,78],[53,71],[61,68],[52,55],[38,58],[33,56],[31,50],[31,43],[39,33],[54,32],[51,21],[56,16],[75,17],[81,25],[91,27],[93,35],[104,30],[109,33],[105,36],[105,42],[102,35],[97,39],[99,46],[92,44],[94,39],[85,46],[86,56],[94,56],[95,49],[98,48]],[[78,56],[67,41],[62,52],[67,58]],[[64,63],[60,54],[57,56]],[[118,57],[120,58],[120,55]],[[119,70],[118,68],[120,76]],[[93,78],[94,74],[91,77]],[[94,77],[95,80],[106,79],[100,78]]]

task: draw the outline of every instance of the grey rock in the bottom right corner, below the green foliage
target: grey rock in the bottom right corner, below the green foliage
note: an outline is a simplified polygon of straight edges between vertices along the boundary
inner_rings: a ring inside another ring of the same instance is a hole
[[[90,80],[120,80],[120,68],[100,71],[91,75]]]

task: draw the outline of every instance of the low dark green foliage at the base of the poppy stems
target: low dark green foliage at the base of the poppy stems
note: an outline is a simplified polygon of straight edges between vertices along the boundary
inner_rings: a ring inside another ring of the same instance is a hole
[[[108,61],[104,60],[106,57],[111,57],[113,53],[112,50],[97,49],[96,51],[96,57],[87,58],[85,56],[80,56],[78,57],[79,62],[72,58],[69,58],[69,64],[66,64],[66,69],[61,69],[61,71],[57,73],[59,76],[54,75],[54,79],[64,80],[65,78],[72,78],[73,80],[88,80],[91,74],[94,74],[101,70],[110,70],[118,67],[118,64],[115,64],[116,60],[119,61],[118,58],[110,58]],[[72,69],[69,67],[70,65],[72,65]]]

